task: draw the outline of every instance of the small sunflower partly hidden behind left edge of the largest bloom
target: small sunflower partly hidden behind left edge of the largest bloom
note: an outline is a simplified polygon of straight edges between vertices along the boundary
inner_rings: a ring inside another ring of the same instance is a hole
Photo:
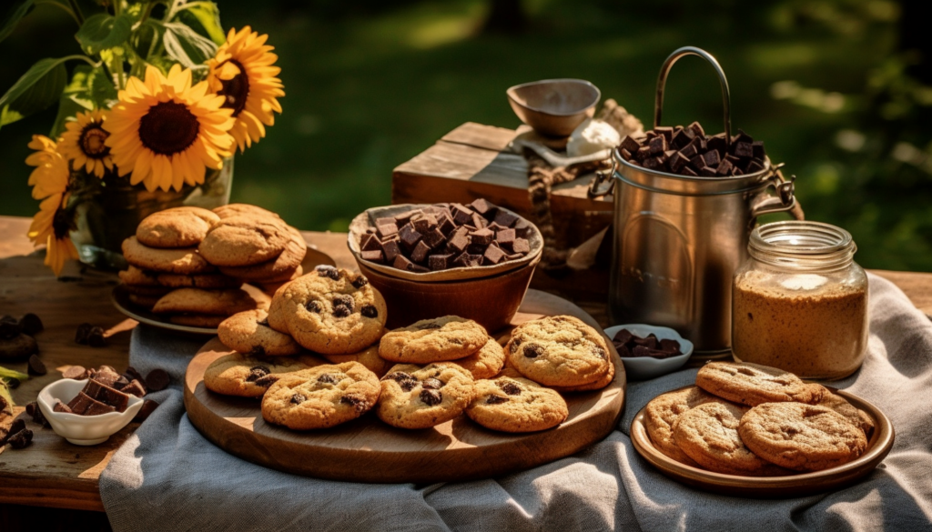
[[[84,167],[84,171],[93,172],[103,178],[103,171],[114,169],[114,159],[110,157],[110,148],[104,144],[110,133],[103,130],[103,121],[108,112],[95,109],[88,113],[78,113],[75,120],[65,124],[65,132],[59,141],[62,156],[73,161],[75,170]]]

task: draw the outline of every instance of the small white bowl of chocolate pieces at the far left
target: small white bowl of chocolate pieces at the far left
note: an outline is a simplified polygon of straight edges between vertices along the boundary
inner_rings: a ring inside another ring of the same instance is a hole
[[[78,416],[52,410],[56,399],[67,404],[75,399],[86,384],[88,384],[88,379],[62,378],[42,389],[38,397],[39,409],[48,419],[52,430],[75,445],[96,445],[106,442],[112,434],[126,427],[143,407],[141,398],[130,395],[130,405],[127,406],[125,412],[108,412],[100,416]]]

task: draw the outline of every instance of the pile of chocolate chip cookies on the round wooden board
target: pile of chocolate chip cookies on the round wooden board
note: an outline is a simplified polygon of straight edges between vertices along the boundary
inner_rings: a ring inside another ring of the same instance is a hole
[[[526,432],[569,416],[561,391],[604,388],[614,376],[601,334],[574,318],[515,329],[513,368],[504,368],[505,349],[475,321],[445,316],[386,331],[386,318],[384,299],[363,276],[318,266],[282,286],[268,312],[220,324],[220,340],[237,352],[212,362],[205,386],[261,397],[266,421],[293,430],[332,427],[375,409],[404,429],[465,413],[488,429]],[[533,357],[519,346],[530,346]]]

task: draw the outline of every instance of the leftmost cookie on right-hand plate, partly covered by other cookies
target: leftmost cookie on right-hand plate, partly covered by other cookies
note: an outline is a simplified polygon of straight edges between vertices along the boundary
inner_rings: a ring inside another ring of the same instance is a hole
[[[667,457],[695,467],[696,462],[680,450],[674,440],[673,425],[681,414],[706,402],[723,402],[723,400],[706,393],[701,388],[691,386],[666,392],[648,402],[644,410],[644,424],[654,447]]]

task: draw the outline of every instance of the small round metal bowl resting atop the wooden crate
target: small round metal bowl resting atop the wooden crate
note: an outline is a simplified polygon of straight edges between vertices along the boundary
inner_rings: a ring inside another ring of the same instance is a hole
[[[584,79],[542,79],[506,91],[514,114],[541,135],[569,137],[583,120],[596,114],[602,97]]]

